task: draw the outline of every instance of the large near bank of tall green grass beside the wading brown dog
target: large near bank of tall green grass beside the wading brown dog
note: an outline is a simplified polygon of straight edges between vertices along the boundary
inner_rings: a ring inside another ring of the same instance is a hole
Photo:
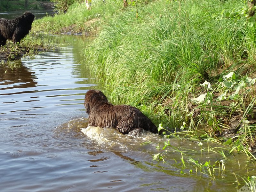
[[[255,153],[255,29],[233,0],[153,1],[104,21],[84,51],[111,102],[140,108],[167,134]]]

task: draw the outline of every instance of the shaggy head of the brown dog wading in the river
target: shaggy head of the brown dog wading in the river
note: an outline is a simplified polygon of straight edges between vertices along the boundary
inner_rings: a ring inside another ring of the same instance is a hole
[[[91,109],[95,106],[100,106],[104,104],[110,104],[108,102],[107,97],[98,90],[89,90],[85,94],[84,98],[84,107],[86,109],[86,112],[90,114]]]

